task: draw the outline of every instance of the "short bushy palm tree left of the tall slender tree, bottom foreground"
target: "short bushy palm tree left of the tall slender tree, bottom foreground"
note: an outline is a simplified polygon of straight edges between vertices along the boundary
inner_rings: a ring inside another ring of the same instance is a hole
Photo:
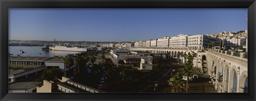
[[[179,74],[173,75],[173,77],[167,82],[169,83],[169,86],[172,86],[171,93],[179,93],[180,88],[184,89],[184,87],[182,86],[183,81]]]

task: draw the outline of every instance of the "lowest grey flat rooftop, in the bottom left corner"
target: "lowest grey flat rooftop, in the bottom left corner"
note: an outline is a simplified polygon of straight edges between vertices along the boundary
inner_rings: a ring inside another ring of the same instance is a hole
[[[9,85],[9,89],[30,89],[37,85],[42,85],[42,82],[14,82]]]

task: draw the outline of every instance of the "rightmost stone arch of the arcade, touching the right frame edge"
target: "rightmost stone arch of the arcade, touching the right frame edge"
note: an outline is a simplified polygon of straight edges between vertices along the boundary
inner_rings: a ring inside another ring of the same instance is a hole
[[[243,71],[241,76],[239,76],[239,86],[238,86],[239,93],[248,93],[248,82],[245,83],[246,79],[248,81],[248,72]],[[247,88],[245,87],[245,84],[247,84]]]

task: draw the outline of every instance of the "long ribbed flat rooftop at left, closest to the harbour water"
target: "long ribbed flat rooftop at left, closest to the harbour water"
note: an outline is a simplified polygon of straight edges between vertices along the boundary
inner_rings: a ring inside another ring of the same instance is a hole
[[[63,57],[23,57],[9,56],[9,60],[24,60],[24,61],[64,61]]]

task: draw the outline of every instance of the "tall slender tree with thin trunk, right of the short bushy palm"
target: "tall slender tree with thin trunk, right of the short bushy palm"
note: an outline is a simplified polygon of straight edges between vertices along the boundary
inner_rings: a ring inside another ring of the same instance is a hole
[[[185,68],[184,68],[185,76],[188,78],[187,79],[186,93],[188,93],[188,81],[189,81],[189,78],[192,75],[193,59],[194,59],[193,54],[191,55],[190,53],[188,53],[188,61],[186,61],[186,65],[185,65]]]

